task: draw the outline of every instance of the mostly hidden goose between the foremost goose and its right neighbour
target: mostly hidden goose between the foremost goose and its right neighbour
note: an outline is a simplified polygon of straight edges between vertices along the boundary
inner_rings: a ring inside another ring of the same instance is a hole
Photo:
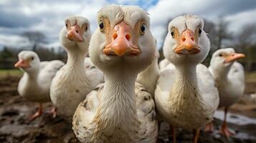
[[[156,82],[158,79],[158,76],[160,74],[159,68],[158,68],[158,57],[159,52],[156,49],[155,51],[155,57],[152,61],[152,63],[141,73],[138,74],[138,77],[136,79],[136,82],[143,85],[143,87],[153,96],[155,89],[156,89]]]

